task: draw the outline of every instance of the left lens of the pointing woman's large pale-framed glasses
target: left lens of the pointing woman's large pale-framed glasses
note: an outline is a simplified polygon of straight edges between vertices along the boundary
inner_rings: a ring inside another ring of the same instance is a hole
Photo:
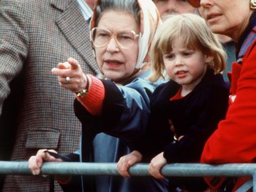
[[[96,47],[103,47],[109,43],[111,33],[103,28],[92,28],[92,42]]]

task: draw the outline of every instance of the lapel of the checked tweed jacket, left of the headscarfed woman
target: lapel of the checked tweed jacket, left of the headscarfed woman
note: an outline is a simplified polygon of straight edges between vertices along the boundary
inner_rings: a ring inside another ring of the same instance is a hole
[[[98,72],[91,48],[89,25],[81,14],[78,2],[76,0],[50,0],[50,3],[54,8],[61,10],[61,14],[55,21],[59,30],[92,69]]]

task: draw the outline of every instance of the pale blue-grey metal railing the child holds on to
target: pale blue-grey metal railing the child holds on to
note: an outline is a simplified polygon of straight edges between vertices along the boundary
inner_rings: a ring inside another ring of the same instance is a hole
[[[148,164],[136,164],[129,169],[133,176],[149,176]],[[0,161],[0,174],[32,175],[28,162]],[[119,175],[115,163],[45,162],[41,175]],[[251,176],[252,179],[237,192],[253,187],[256,192],[256,164],[167,164],[162,168],[164,176]]]

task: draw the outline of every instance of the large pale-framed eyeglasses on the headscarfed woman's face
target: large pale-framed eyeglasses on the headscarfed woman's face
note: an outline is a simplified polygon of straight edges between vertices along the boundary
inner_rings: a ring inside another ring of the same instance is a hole
[[[91,30],[91,39],[95,47],[105,47],[114,37],[114,40],[121,48],[131,48],[134,45],[136,38],[140,36],[133,30],[120,30],[116,34],[105,28],[94,27]]]

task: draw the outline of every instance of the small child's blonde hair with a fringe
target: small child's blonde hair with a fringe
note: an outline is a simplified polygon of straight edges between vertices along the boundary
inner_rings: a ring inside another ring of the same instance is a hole
[[[199,50],[207,56],[213,56],[209,63],[215,73],[222,72],[226,66],[226,52],[218,37],[211,32],[202,17],[196,14],[171,15],[156,30],[151,45],[152,73],[150,81],[165,78],[163,56],[172,51],[173,40],[181,39],[184,47]]]

